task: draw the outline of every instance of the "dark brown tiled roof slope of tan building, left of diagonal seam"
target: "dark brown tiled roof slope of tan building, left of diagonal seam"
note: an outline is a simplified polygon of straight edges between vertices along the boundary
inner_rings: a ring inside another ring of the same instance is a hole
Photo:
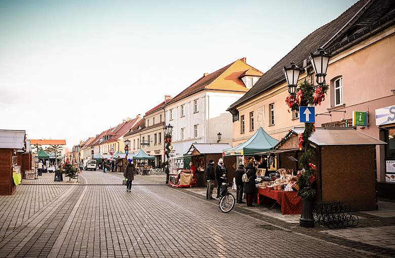
[[[296,65],[303,66],[303,60],[310,53],[313,53],[319,46],[324,46],[329,40],[333,39],[338,32],[346,26],[355,16],[360,14],[366,4],[371,0],[360,0],[355,3],[339,17],[307,35],[300,43],[292,49],[285,57],[264,73],[254,86],[242,98],[234,102],[228,110],[235,109],[242,103],[262,94],[279,83],[285,81],[283,67],[294,61]],[[389,0],[387,0],[389,1]]]

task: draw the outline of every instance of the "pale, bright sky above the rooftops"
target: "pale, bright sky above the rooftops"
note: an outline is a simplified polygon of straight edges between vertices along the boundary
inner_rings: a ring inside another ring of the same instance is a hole
[[[78,144],[236,59],[268,70],[351,1],[0,0],[0,129]]]

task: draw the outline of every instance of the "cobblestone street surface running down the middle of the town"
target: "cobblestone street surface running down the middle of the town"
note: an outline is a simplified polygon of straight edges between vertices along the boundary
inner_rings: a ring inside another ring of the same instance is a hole
[[[0,257],[380,254],[317,237],[314,234],[319,230],[284,227],[290,223],[242,207],[225,214],[220,212],[217,201],[153,185],[147,181],[149,178],[136,177],[136,185],[128,193],[125,186],[119,185],[122,178],[115,173],[84,171],[80,185],[24,184],[13,196],[0,196]]]

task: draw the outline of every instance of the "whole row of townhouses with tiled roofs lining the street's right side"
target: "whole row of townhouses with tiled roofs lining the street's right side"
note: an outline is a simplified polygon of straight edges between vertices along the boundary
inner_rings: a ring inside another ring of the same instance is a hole
[[[286,106],[283,68],[293,61],[304,68],[299,82],[315,83],[308,56],[319,47],[331,53],[326,76],[330,89],[315,110],[315,125],[352,126],[353,111],[366,111],[367,126],[355,129],[388,143],[376,148],[378,190],[395,192],[394,185],[385,180],[387,161],[395,160],[395,5],[390,0],[355,3],[307,35],[266,72],[242,58],[205,73],[174,98],[166,96],[143,118],[87,139],[80,144],[81,156],[122,150],[128,139],[131,153],[143,148],[159,165],[164,160],[163,127],[167,124],[173,126],[173,157],[184,154],[195,142],[217,143],[218,134],[221,143],[239,145],[259,127],[280,140],[290,128],[303,125],[298,112],[289,112]]]

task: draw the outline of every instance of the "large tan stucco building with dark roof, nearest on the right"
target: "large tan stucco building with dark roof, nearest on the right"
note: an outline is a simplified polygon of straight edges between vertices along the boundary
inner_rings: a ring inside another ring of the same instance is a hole
[[[377,126],[375,112],[395,106],[395,25],[390,5],[380,3],[359,1],[309,34],[233,103],[228,109],[234,121],[232,146],[247,141],[259,126],[280,140],[289,128],[303,125],[298,113],[288,112],[288,87],[282,70],[290,61],[300,67],[306,64],[307,73],[301,74],[299,82],[306,79],[315,83],[311,64],[305,59],[319,46],[332,56],[326,76],[330,89],[322,105],[315,107],[315,125],[352,126],[352,111],[366,111],[369,125],[356,129],[388,143],[395,135],[395,123]],[[395,184],[385,184],[386,161],[395,160],[395,147],[389,148],[392,144],[376,148],[377,182],[382,196],[395,193]]]

